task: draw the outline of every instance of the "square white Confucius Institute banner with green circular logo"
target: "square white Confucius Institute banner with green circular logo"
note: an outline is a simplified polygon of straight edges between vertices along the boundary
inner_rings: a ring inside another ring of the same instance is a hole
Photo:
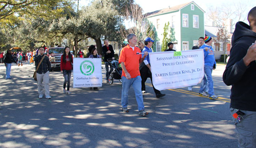
[[[101,58],[74,58],[73,87],[101,87]]]

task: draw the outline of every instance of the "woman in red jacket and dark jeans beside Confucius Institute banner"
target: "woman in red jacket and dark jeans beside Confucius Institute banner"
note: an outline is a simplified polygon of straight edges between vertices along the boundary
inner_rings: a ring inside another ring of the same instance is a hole
[[[69,47],[65,47],[63,55],[61,56],[61,73],[64,77],[63,83],[63,93],[71,94],[69,91],[70,87],[70,78],[72,72],[72,64],[73,64],[73,56],[70,53]],[[67,92],[66,92],[66,85],[67,85]]]

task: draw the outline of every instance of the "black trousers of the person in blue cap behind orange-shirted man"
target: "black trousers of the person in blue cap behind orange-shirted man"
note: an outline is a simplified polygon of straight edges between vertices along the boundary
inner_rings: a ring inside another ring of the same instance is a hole
[[[147,66],[144,66],[143,68],[141,68],[140,73],[141,73],[141,91],[145,91],[146,90],[145,82],[148,79],[148,77],[150,78],[152,86],[153,86],[152,74]],[[154,86],[153,86],[153,89],[154,89],[155,94],[161,93],[159,90],[155,89]]]

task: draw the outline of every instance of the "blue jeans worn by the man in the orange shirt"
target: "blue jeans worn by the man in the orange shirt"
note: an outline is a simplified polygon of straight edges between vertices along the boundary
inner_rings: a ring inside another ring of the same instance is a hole
[[[141,76],[131,78],[131,80],[128,80],[126,77],[122,76],[122,107],[124,108],[128,106],[128,92],[131,86],[133,86],[134,88],[135,98],[138,104],[138,110],[144,110],[143,97],[141,93]]]

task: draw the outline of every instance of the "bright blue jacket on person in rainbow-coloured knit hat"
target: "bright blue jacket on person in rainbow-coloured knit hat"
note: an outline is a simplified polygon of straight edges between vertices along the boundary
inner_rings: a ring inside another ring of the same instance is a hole
[[[205,47],[208,47],[208,51],[204,49]],[[211,46],[208,46],[207,44],[203,44],[200,47],[200,49],[203,49],[203,52],[204,52],[204,65],[207,65],[207,66],[216,65],[213,48]]]

